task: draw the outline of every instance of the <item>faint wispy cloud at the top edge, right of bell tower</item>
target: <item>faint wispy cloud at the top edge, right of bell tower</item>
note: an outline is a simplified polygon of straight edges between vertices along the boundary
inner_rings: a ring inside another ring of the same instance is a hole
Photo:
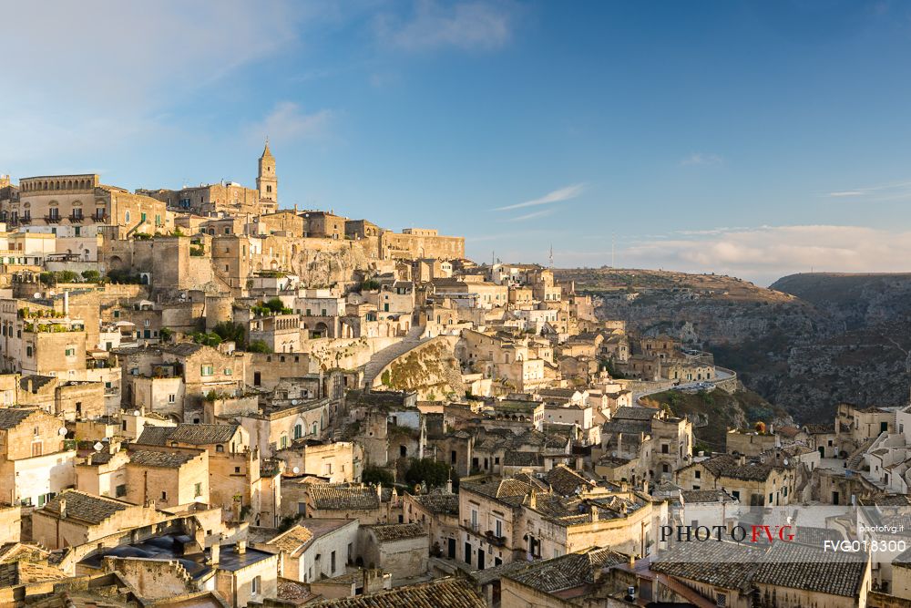
[[[497,2],[417,0],[408,19],[381,15],[375,20],[376,34],[384,44],[406,51],[455,47],[462,50],[493,50],[504,46],[512,35],[513,12]]]

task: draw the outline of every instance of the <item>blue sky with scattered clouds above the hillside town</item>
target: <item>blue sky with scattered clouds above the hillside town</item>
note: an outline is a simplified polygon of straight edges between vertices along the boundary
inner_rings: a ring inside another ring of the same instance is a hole
[[[911,6],[15,3],[0,172],[252,185],[469,256],[906,270]],[[17,52],[16,49],[20,49]]]

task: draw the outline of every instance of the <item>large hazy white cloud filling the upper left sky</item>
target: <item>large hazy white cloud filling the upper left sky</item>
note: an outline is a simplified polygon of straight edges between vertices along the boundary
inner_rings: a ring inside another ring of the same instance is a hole
[[[296,44],[317,8],[251,4],[49,0],[5,6],[0,166],[85,155],[168,132],[169,108],[238,67]],[[217,100],[211,100],[217,103]],[[202,106],[204,108],[204,106]]]

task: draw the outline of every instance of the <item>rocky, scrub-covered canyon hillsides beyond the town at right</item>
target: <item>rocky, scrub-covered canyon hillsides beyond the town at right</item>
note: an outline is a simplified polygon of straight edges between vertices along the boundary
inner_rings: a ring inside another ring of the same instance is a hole
[[[594,295],[600,317],[711,351],[798,421],[828,420],[841,402],[908,400],[911,274],[796,274],[769,289],[658,271],[557,274]]]

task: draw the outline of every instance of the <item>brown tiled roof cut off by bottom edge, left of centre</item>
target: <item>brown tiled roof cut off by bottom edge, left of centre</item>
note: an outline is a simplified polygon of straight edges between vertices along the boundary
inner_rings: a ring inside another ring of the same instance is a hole
[[[466,579],[445,578],[370,595],[355,595],[311,604],[341,608],[486,608]]]

